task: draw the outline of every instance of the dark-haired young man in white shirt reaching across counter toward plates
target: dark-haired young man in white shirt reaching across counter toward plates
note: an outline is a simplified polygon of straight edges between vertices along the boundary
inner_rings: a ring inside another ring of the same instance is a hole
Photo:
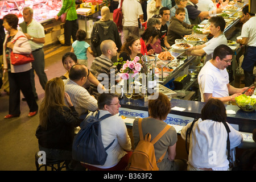
[[[213,38],[210,39],[207,43],[204,43],[200,46],[194,46],[188,49],[188,54],[193,56],[205,56],[205,61],[212,59],[214,49],[221,44],[228,44],[226,37],[223,33],[226,22],[222,16],[212,16],[209,19],[210,22],[210,33],[213,35]]]

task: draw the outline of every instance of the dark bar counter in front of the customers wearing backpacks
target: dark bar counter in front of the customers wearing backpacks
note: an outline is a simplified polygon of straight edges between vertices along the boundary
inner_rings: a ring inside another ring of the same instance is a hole
[[[128,99],[126,97],[123,97],[120,99],[120,105],[121,105],[121,115],[122,115],[122,109],[131,109],[136,113],[136,111],[148,111],[148,102],[144,102],[144,99],[138,99],[138,100],[132,100],[130,99],[131,105],[127,105],[126,102]],[[186,122],[193,121],[194,118],[200,118],[201,117],[201,109],[205,105],[205,102],[197,102],[197,101],[187,101],[187,100],[171,100],[171,111],[170,114],[180,115],[183,117],[188,117],[189,121],[181,121],[179,124],[185,125]],[[232,126],[235,126],[234,128],[238,131],[244,132],[244,133],[252,133],[253,129],[256,128],[256,111],[247,112],[242,111],[237,105],[225,105],[226,110],[233,111],[235,114],[227,114],[227,120],[228,123],[232,124]],[[176,107],[184,108],[185,110],[174,110]],[[123,114],[128,115],[129,114]],[[137,114],[139,115],[139,114]],[[136,114],[132,114],[131,116],[136,117]],[[147,115],[139,115],[140,117],[147,117]],[[236,128],[236,125],[238,126]]]

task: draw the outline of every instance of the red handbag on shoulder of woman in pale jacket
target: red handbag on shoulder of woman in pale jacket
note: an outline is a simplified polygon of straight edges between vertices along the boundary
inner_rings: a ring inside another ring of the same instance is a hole
[[[19,36],[16,40],[18,40],[22,36],[23,35]],[[25,36],[23,36],[23,37],[25,38]],[[16,40],[14,40],[12,43],[14,44],[16,42]],[[12,65],[22,65],[22,64],[27,64],[27,63],[33,62],[34,56],[32,55],[32,53],[23,54],[23,53],[14,53],[13,51],[11,51],[10,60],[11,60]]]

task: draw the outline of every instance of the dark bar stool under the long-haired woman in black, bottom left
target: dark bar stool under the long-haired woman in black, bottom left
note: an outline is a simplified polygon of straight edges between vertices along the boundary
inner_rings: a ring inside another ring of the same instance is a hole
[[[36,165],[36,171],[40,171],[40,168],[44,167],[44,170],[47,171],[47,167],[51,168],[51,171],[61,171],[63,168],[67,168],[67,161],[66,160],[55,160],[55,159],[47,159],[46,158],[46,164],[39,164],[38,159],[41,157],[38,155],[38,152],[35,154],[35,165]],[[40,165],[40,166],[39,166]],[[55,166],[57,167],[55,167]]]

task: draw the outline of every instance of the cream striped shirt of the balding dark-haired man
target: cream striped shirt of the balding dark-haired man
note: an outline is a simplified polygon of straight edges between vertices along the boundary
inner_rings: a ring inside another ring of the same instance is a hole
[[[97,100],[90,96],[88,91],[82,86],[76,84],[76,82],[70,80],[63,80],[65,85],[65,92],[69,94],[72,104],[79,115],[89,111],[95,111],[98,109]],[[66,102],[67,104],[67,102]]]

